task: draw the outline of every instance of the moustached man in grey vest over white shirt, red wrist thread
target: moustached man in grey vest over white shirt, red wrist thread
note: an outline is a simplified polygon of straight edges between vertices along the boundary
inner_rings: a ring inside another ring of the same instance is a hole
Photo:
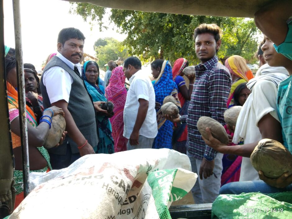
[[[41,78],[43,106],[57,106],[65,112],[66,139],[57,148],[48,149],[53,169],[68,167],[75,160],[97,150],[95,111],[103,111],[93,102],[82,79],[81,65],[84,35],[75,28],[64,28],[58,35],[57,55],[45,66]]]

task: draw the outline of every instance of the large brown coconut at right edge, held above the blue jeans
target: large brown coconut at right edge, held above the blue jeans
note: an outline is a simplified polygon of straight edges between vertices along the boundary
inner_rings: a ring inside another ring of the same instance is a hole
[[[269,178],[278,178],[285,172],[292,174],[292,154],[275,140],[260,140],[250,155],[250,161],[254,169],[261,170]]]

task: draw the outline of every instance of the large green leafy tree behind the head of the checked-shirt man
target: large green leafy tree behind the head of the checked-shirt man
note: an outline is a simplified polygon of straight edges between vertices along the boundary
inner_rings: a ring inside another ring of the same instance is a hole
[[[91,11],[91,14],[80,8]],[[104,14],[98,8],[87,3],[77,3],[75,12],[84,21],[90,18],[102,25],[100,21]],[[252,19],[111,9],[110,21],[118,27],[120,33],[127,34],[123,44],[129,54],[137,55],[143,61],[161,58],[173,63],[177,58],[185,57],[190,64],[198,63],[193,31],[202,23],[215,23],[222,29],[222,46],[217,54],[219,58],[240,55],[248,62],[255,61],[258,29]]]

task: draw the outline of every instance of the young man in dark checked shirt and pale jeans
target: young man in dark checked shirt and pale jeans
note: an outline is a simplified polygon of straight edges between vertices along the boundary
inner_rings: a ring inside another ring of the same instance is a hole
[[[231,76],[216,56],[221,46],[220,35],[221,30],[215,24],[201,24],[194,30],[196,55],[201,63],[195,66],[195,81],[194,78],[189,78],[189,85],[192,86],[194,82],[194,89],[188,115],[177,119],[166,116],[173,122],[188,124],[187,155],[192,171],[200,178],[192,189],[196,204],[213,203],[221,185],[223,154],[206,145],[197,128],[197,121],[201,116],[209,116],[221,124],[225,123],[223,113],[230,92]]]

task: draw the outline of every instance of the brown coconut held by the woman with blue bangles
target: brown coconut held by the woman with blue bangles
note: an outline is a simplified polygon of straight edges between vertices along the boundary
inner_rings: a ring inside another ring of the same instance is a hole
[[[49,120],[49,119],[48,119]],[[66,128],[66,121],[64,116],[57,114],[52,117],[52,125],[49,130],[48,137],[43,144],[45,148],[53,148],[60,142],[63,132]]]

